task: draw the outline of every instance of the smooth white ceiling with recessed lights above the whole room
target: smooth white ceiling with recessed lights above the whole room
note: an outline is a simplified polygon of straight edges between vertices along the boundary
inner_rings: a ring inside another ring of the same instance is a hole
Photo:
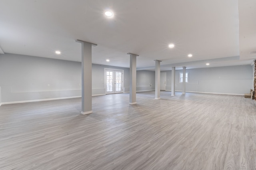
[[[118,67],[129,67],[127,53],[139,55],[137,69],[148,70],[154,60],[168,70],[256,59],[255,0],[1,0],[0,6],[0,53],[81,61],[78,39],[98,44],[92,63]]]

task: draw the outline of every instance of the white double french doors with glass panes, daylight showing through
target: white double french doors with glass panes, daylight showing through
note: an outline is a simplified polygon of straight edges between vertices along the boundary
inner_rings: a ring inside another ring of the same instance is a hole
[[[106,94],[123,93],[123,71],[105,69]]]

